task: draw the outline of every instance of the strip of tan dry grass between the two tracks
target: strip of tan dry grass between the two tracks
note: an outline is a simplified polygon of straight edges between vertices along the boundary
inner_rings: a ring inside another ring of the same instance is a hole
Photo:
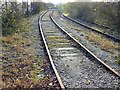
[[[86,30],[82,31],[79,27],[74,26],[69,22],[66,23],[71,27],[71,29],[76,30],[78,32],[84,32],[81,35],[86,36],[89,41],[93,42],[94,44],[97,44],[103,50],[111,52],[113,49],[119,50],[120,48],[118,43],[111,42],[107,38],[102,37],[101,35],[95,32],[90,32]]]

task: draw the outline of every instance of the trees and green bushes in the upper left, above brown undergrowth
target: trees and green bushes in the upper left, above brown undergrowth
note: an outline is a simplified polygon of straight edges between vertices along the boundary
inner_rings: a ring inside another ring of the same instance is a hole
[[[47,9],[43,2],[4,2],[2,4],[2,35],[20,32],[19,22],[23,18]]]

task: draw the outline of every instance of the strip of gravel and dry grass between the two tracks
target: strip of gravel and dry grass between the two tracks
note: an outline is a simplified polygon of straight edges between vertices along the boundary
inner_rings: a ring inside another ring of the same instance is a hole
[[[98,58],[120,73],[118,42],[109,40],[100,34],[93,33],[90,30],[86,30],[82,26],[80,27],[73,22],[69,22],[68,20],[60,17],[57,11],[54,11],[53,18],[62,28],[69,32]],[[93,41],[91,41],[89,38],[92,38]],[[109,45],[114,46],[110,47]]]

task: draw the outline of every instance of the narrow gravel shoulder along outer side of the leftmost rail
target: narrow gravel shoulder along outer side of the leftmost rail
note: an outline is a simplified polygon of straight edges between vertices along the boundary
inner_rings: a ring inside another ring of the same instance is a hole
[[[49,81],[47,81],[47,85],[43,88],[56,88],[59,89],[59,83],[57,81],[57,78],[54,74],[54,71],[50,65],[49,59],[45,53],[45,47],[43,45],[43,41],[41,36],[39,35],[39,29],[38,29],[38,18],[39,18],[40,14],[37,14],[35,16],[32,17],[31,19],[31,27],[32,27],[32,33],[31,35],[34,37],[34,43],[32,45],[32,47],[35,49],[35,54],[37,56],[38,59],[43,60],[44,63],[47,63],[47,66],[45,68],[45,77],[49,78]],[[42,63],[38,63],[39,65]],[[42,76],[42,75],[39,75]]]

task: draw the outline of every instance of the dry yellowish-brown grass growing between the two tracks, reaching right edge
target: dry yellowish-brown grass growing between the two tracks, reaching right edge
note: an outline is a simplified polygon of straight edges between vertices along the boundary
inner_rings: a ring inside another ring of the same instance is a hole
[[[120,44],[112,42],[108,40],[107,38],[104,38],[103,36],[95,33],[95,32],[90,32],[87,30],[82,30],[77,26],[74,26],[68,21],[65,21],[67,25],[71,27],[71,29],[76,30],[77,32],[83,32],[80,35],[81,36],[86,36],[87,40],[89,40],[92,44],[95,44],[99,46],[102,50],[108,51],[112,54],[112,56],[115,58],[115,62],[120,63]],[[75,37],[78,41],[81,41],[79,37]],[[83,42],[84,43],[84,42]],[[116,50],[114,52],[114,50]]]

